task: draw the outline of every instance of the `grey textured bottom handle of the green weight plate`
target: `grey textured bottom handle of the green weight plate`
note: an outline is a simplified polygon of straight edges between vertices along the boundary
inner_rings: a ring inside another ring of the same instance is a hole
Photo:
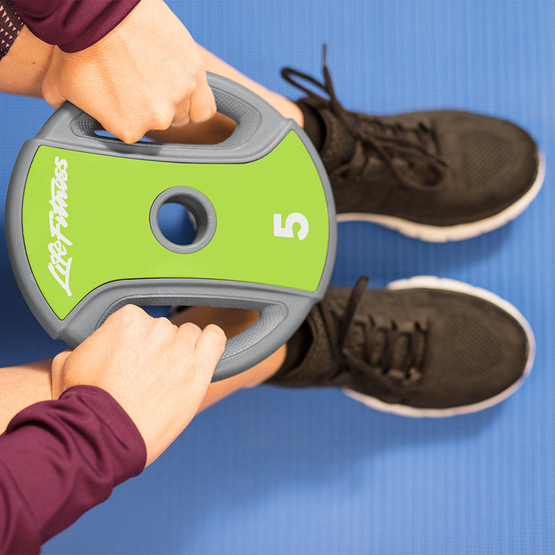
[[[261,284],[219,280],[121,280],[91,291],[53,326],[44,325],[54,339],[71,347],[84,341],[110,314],[138,306],[187,305],[251,309],[259,318],[232,337],[214,372],[213,382],[248,370],[271,355],[296,332],[314,302],[315,293],[285,290]],[[42,323],[42,322],[41,322]]]

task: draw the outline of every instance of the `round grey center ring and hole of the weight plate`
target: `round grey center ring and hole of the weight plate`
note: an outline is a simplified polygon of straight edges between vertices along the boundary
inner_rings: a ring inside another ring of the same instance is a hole
[[[216,231],[216,212],[210,200],[192,187],[171,187],[151,206],[151,230],[157,241],[174,253],[204,248]]]

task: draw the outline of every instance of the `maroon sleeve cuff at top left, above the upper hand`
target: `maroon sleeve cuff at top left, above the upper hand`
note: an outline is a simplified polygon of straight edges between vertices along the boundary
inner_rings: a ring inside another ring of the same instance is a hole
[[[33,35],[65,52],[88,48],[125,19],[139,0],[9,0]]]

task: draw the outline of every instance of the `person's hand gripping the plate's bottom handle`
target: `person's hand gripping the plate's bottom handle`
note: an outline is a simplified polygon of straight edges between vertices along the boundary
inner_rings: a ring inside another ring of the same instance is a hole
[[[53,359],[52,397],[76,385],[108,391],[139,429],[148,465],[195,416],[224,345],[216,325],[177,327],[126,305]]]

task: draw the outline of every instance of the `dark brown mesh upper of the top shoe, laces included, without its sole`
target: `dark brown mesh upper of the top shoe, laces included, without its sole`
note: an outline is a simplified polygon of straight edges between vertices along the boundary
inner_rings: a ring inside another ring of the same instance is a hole
[[[493,216],[521,198],[538,175],[538,148],[509,121],[437,110],[376,117],[349,112],[324,83],[285,68],[308,96],[298,104],[323,121],[319,149],[341,213],[383,214],[450,226]],[[320,96],[300,80],[319,87]]]

